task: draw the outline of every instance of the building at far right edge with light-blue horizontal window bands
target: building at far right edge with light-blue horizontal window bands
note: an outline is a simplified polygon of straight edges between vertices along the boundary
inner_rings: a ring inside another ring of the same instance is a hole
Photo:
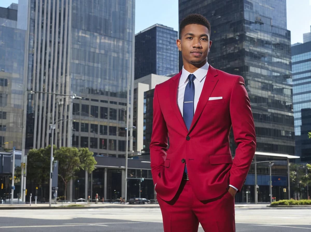
[[[293,44],[292,75],[295,119],[295,151],[300,161],[311,162],[311,41]]]

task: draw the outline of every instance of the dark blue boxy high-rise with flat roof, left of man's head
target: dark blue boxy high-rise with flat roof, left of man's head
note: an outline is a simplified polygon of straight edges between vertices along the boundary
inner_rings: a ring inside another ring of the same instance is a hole
[[[135,80],[149,74],[171,75],[178,70],[177,31],[155,24],[135,35]]]

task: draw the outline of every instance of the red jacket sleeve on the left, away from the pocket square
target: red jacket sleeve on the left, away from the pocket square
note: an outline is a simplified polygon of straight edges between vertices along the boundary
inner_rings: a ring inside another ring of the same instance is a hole
[[[164,167],[168,147],[168,130],[161,111],[157,91],[158,86],[156,85],[153,97],[153,123],[150,143],[151,174],[154,184],[156,184],[157,176]]]

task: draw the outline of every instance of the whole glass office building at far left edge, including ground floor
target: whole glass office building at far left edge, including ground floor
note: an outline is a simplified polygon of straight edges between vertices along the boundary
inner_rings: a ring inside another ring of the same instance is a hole
[[[4,202],[11,193],[12,149],[22,148],[25,36],[25,30],[17,29],[17,10],[12,5],[0,7],[0,196]],[[15,166],[21,166],[20,152],[15,154]],[[21,181],[16,179],[14,198],[20,191]]]

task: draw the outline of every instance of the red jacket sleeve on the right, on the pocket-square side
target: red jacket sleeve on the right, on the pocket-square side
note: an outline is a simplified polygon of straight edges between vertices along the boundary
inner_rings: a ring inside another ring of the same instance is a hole
[[[253,114],[244,79],[241,76],[238,76],[233,84],[230,98],[230,117],[234,141],[237,145],[230,169],[230,185],[235,186],[240,191],[256,150]]]

